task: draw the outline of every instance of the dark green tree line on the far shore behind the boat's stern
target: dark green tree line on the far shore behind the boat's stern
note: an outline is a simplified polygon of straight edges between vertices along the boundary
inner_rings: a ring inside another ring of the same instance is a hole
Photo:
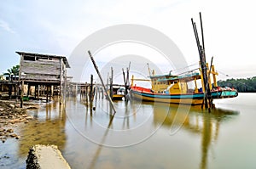
[[[226,81],[218,81],[219,87],[234,87],[240,93],[256,92],[256,76],[247,79],[227,79]]]

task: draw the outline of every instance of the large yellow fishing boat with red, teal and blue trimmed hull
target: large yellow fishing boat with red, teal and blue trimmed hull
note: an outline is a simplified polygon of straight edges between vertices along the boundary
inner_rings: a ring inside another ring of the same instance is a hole
[[[212,65],[213,66],[213,65]],[[195,72],[184,76],[153,75],[149,76],[151,88],[137,87],[131,79],[131,98],[144,101],[165,102],[171,104],[203,104],[206,97],[211,99],[234,98],[238,95],[236,89],[230,87],[218,87],[216,74],[213,73],[213,85],[209,85],[210,96],[206,96],[205,88],[198,88],[198,80],[203,83],[201,73]],[[210,78],[209,78],[210,81]],[[189,83],[193,82],[195,88],[189,88]]]

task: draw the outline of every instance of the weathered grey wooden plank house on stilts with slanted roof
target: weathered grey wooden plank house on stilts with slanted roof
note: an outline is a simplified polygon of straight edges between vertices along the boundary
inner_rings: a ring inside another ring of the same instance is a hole
[[[67,58],[60,55],[34,54],[16,52],[20,55],[20,104],[24,99],[24,85],[27,85],[27,97],[32,93],[30,87],[34,87],[34,98],[46,93],[46,100],[57,88],[61,101],[65,97],[67,81],[67,68],[70,68]]]

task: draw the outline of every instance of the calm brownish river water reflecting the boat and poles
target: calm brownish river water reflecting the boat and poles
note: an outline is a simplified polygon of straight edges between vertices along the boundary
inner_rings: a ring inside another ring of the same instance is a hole
[[[256,93],[200,106],[84,99],[38,103],[0,144],[0,168],[26,168],[33,144],[55,144],[72,168],[256,168]]]

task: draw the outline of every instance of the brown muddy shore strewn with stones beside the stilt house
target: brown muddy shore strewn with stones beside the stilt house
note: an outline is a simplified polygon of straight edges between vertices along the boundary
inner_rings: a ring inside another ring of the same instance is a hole
[[[15,100],[0,100],[0,141],[4,144],[7,139],[20,139],[15,132],[20,123],[33,120],[32,115],[27,115],[26,110],[38,109],[39,105],[26,102],[20,108],[20,102]]]

